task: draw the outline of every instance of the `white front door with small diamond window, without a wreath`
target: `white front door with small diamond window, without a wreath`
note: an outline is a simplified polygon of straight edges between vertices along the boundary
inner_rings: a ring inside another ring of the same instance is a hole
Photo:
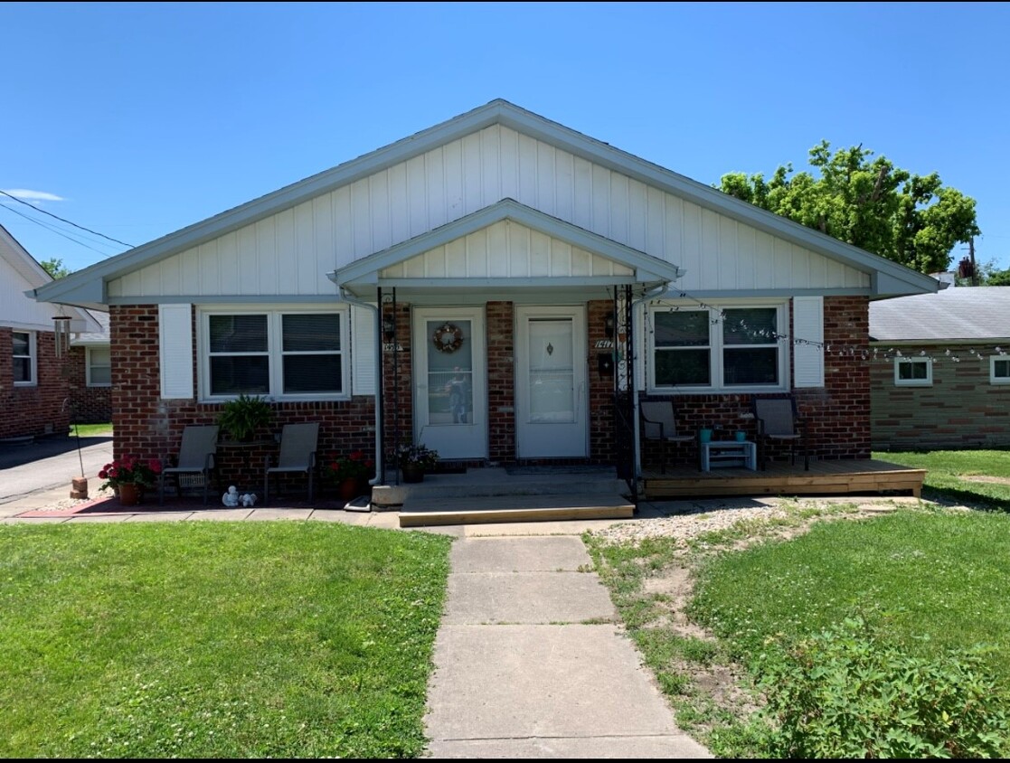
[[[518,307],[516,323],[517,456],[586,457],[585,308]]]

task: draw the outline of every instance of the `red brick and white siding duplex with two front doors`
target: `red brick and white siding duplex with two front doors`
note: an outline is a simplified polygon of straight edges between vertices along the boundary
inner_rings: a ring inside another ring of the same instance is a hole
[[[869,457],[869,302],[936,288],[498,100],[37,298],[108,308],[118,454],[246,393],[321,422],[323,452],[626,475],[631,388],[751,433],[751,396],[794,393],[819,457]]]

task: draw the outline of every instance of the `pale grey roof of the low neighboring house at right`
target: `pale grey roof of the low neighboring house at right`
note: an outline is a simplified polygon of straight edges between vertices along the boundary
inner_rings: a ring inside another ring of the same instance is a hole
[[[870,303],[870,338],[882,342],[1010,339],[1010,287],[955,287]]]

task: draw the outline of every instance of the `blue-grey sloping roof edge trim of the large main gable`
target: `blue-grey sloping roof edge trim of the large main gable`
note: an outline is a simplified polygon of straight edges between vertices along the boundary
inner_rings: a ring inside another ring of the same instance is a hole
[[[767,212],[501,99],[267,194],[214,217],[137,246],[35,290],[35,298],[85,306],[104,303],[105,283],[141,266],[278,214],[493,124],[510,127],[703,208],[871,274],[874,296],[935,292],[936,282],[903,265]]]

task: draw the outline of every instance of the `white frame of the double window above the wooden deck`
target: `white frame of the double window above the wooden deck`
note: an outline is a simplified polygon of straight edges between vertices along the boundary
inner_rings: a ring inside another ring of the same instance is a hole
[[[790,374],[789,369],[792,367],[790,362],[790,352],[789,352],[789,342],[779,339],[776,341],[770,341],[767,344],[750,344],[750,345],[725,345],[723,343],[723,331],[722,331],[722,318],[721,314],[724,310],[736,310],[736,309],[747,309],[747,308],[774,308],[776,313],[776,325],[778,326],[779,334],[788,334],[789,327],[789,301],[788,300],[733,300],[732,302],[712,302],[706,303],[706,307],[700,307],[695,304],[682,304],[682,303],[661,303],[659,305],[650,305],[647,313],[647,321],[649,327],[655,326],[655,314],[656,313],[669,313],[671,310],[681,310],[681,311],[707,311],[708,312],[708,350],[709,350],[709,378],[711,379],[711,385],[708,386],[659,386],[655,382],[655,333],[654,330],[649,330],[645,338],[646,346],[646,363],[648,365],[647,373],[647,392],[655,394],[670,394],[676,392],[678,394],[696,394],[696,395],[735,395],[735,394],[746,394],[746,393],[776,393],[776,392],[789,392],[790,390]],[[726,347],[753,347],[755,349],[762,347],[772,347],[776,346],[779,350],[779,384],[777,385],[726,385],[723,378],[723,357],[722,353]],[[701,349],[701,348],[699,348]],[[662,350],[661,350],[662,351]],[[675,351],[676,350],[671,350]]]

